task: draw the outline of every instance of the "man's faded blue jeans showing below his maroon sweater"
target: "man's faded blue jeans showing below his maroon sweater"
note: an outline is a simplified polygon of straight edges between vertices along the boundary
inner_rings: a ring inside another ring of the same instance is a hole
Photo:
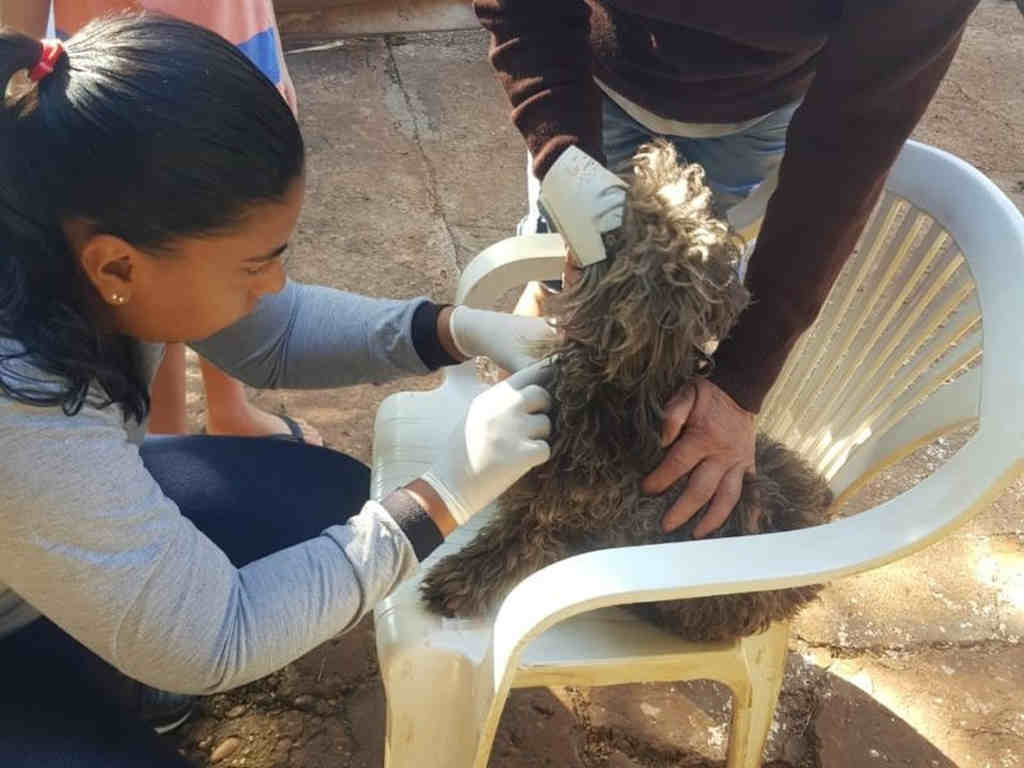
[[[739,133],[715,138],[659,136],[630,117],[607,96],[601,112],[601,143],[608,168],[620,170],[640,144],[665,138],[676,146],[681,160],[698,163],[705,169],[714,196],[715,212],[726,211],[742,202],[758,184],[774,174],[785,153],[785,134],[800,102],[781,106]],[[527,167],[529,213],[517,233],[550,231],[537,208],[539,185]]]

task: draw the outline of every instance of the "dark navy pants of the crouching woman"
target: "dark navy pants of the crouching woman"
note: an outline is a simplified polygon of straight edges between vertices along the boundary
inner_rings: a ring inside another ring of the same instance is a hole
[[[366,466],[289,440],[159,437],[141,455],[182,514],[238,566],[318,536],[370,497]],[[0,766],[184,768],[125,712],[127,687],[45,618],[0,640]]]

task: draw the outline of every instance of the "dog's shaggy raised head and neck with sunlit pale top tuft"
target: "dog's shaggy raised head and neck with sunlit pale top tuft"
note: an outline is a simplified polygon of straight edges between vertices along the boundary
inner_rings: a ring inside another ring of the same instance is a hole
[[[640,147],[625,180],[623,225],[603,236],[607,258],[546,301],[562,333],[540,351],[558,355],[559,422],[573,433],[562,439],[581,450],[623,441],[607,445],[610,455],[633,440],[646,455],[635,441],[653,435],[656,449],[662,409],[710,371],[709,350],[749,294],[737,271],[741,243],[712,215],[702,168],[680,165],[658,141]]]

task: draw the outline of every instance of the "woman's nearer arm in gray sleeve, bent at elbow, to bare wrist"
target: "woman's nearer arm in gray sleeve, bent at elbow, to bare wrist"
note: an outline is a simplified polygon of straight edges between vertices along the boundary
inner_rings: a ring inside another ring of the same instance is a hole
[[[69,418],[0,399],[0,583],[167,690],[209,693],[280,669],[352,627],[441,541],[397,492],[237,568],[161,492],[117,409]]]

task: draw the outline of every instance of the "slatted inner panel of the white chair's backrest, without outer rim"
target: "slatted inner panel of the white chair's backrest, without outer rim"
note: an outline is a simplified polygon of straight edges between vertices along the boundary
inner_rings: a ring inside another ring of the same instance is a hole
[[[928,433],[977,418],[981,305],[949,231],[886,191],[812,329],[786,361],[761,428],[831,478],[956,379],[959,408],[932,409]],[[899,446],[893,446],[894,449]],[[884,457],[881,457],[884,458]]]

